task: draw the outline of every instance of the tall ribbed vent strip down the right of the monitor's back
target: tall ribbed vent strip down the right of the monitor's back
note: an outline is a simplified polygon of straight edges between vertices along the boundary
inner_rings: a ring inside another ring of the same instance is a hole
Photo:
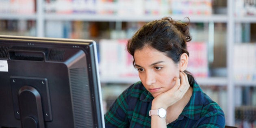
[[[70,69],[71,92],[76,128],[93,128],[93,110],[86,68]]]

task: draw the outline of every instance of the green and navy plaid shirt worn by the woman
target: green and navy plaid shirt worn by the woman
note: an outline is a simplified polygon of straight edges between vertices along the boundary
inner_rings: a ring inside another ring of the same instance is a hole
[[[104,115],[106,128],[150,128],[148,115],[154,97],[137,82],[126,89]],[[182,113],[167,128],[224,128],[225,116],[197,83]]]

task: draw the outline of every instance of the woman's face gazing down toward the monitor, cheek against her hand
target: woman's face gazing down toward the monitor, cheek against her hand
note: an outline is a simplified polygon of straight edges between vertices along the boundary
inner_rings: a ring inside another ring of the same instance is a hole
[[[179,65],[154,48],[136,50],[134,59],[142,84],[154,98],[174,87],[173,79],[179,78]]]

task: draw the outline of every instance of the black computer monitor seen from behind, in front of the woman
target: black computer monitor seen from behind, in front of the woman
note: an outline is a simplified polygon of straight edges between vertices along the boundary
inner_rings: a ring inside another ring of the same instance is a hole
[[[104,128],[93,40],[0,35],[0,128]]]

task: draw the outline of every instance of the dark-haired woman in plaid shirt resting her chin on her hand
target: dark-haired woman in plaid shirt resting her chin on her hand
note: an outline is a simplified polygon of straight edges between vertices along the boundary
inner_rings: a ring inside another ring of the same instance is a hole
[[[188,24],[170,17],[145,24],[128,41],[141,81],[126,89],[104,115],[106,128],[223,128],[219,105],[186,71]]]

